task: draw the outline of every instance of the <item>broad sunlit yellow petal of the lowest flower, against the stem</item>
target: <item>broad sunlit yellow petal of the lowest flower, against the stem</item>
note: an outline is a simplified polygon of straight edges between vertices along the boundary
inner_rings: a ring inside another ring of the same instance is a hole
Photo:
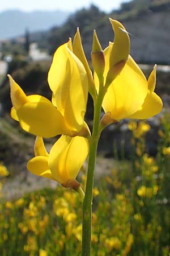
[[[62,135],[50,151],[49,167],[52,175],[61,184],[75,179],[87,155],[86,138]]]

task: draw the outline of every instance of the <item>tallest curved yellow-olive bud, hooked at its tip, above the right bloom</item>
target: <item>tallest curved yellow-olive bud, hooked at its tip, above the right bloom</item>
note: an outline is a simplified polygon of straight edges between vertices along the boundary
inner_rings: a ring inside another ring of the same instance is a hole
[[[128,60],[130,39],[124,26],[117,20],[110,18],[114,30],[114,44],[110,55],[110,67],[122,60]]]

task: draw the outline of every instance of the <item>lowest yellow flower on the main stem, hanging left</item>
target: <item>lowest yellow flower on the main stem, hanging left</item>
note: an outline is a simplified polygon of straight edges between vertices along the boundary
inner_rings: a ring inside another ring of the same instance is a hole
[[[88,140],[84,137],[62,135],[49,154],[42,138],[37,137],[35,157],[28,161],[27,168],[32,174],[56,180],[64,187],[70,187],[70,182],[73,185],[87,155]]]

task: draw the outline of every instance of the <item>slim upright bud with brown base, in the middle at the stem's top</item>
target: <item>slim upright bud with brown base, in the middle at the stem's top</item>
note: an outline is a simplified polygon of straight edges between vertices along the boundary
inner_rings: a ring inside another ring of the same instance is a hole
[[[98,77],[103,76],[105,68],[105,59],[103,49],[100,46],[99,39],[97,38],[96,31],[94,30],[94,40],[92,45],[91,60],[94,71]]]

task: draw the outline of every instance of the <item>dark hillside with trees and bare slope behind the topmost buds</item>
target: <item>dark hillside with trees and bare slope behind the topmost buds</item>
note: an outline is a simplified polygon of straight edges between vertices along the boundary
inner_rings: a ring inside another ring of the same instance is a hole
[[[46,34],[46,47],[53,53],[60,44],[73,38],[80,28],[84,50],[90,59],[92,34],[96,29],[103,48],[113,42],[109,17],[120,20],[130,32],[131,55],[138,63],[170,64],[170,0],[134,0],[123,3],[120,10],[106,15],[97,7],[82,9],[71,15],[61,27]]]

